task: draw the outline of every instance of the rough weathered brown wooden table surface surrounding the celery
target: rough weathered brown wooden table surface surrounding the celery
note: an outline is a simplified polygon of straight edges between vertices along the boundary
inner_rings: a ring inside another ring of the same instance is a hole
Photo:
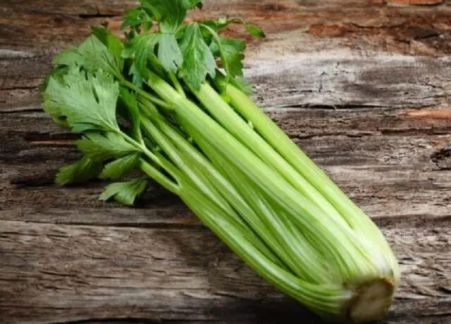
[[[266,30],[247,51],[255,99],[399,256],[402,283],[381,323],[451,323],[446,2],[206,0],[192,15],[228,12]],[[40,108],[51,58],[90,25],[118,31],[133,5],[0,1],[0,322],[321,323],[159,187],[125,208],[98,201],[101,182],[53,185],[78,153]]]

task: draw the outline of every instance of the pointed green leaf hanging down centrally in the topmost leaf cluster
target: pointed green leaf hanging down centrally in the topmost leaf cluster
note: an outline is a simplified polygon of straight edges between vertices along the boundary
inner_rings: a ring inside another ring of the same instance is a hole
[[[179,70],[179,76],[187,85],[199,89],[206,75],[216,75],[216,61],[209,46],[204,42],[197,23],[188,25],[185,35],[180,42],[183,53],[183,64]]]

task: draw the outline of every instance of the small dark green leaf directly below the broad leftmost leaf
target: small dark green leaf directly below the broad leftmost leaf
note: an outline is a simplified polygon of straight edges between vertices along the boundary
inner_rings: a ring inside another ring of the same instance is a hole
[[[125,141],[116,132],[107,132],[105,136],[100,135],[98,132],[87,133],[75,144],[80,151],[94,161],[121,158],[138,152],[136,147]]]

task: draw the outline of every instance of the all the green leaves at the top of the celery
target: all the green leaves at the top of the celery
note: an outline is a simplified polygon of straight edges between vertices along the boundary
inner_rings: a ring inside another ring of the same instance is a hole
[[[144,98],[165,104],[144,85],[149,70],[190,91],[220,74],[221,61],[226,80],[247,92],[242,80],[245,43],[218,33],[231,23],[244,25],[255,37],[264,33],[228,16],[185,23],[187,12],[196,8],[202,8],[202,0],[141,0],[123,18],[125,43],[105,27],[93,27],[92,35],[77,48],[54,58],[55,68],[44,82],[42,106],[56,123],[81,135],[75,144],[84,154],[80,161],[61,168],[58,184],[96,177],[118,180],[143,163],[155,173],[164,169],[158,153],[152,151],[158,148],[141,131],[139,102]],[[146,187],[145,177],[115,182],[101,199],[132,205]]]

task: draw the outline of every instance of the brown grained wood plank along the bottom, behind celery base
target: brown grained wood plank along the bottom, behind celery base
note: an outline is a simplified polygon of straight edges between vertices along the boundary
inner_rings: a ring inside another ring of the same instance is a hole
[[[435,254],[436,248],[449,247],[443,227],[450,224],[384,229],[403,273],[388,323],[410,323],[396,316],[409,316],[404,312],[412,310],[405,304],[412,301],[435,303],[435,312],[450,315],[450,250]],[[10,318],[8,323],[61,323],[93,314],[98,319],[268,323],[260,317],[267,307],[279,307],[281,318],[303,314],[306,323],[317,322],[313,317],[309,322],[302,308],[266,285],[202,228],[3,222],[0,256],[0,313]]]

